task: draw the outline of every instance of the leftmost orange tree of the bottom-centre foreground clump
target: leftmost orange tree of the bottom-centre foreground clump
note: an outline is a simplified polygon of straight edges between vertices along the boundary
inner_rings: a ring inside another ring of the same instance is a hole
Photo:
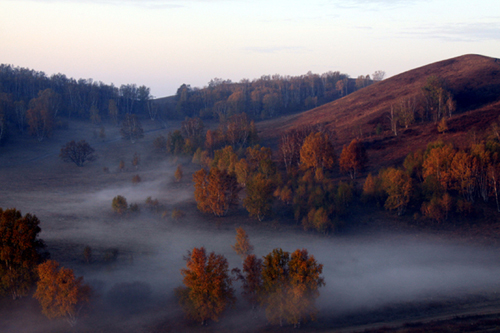
[[[207,256],[201,247],[188,251],[186,261],[187,268],[181,270],[185,287],[176,290],[186,316],[202,325],[217,321],[235,302],[226,258],[214,252]]]

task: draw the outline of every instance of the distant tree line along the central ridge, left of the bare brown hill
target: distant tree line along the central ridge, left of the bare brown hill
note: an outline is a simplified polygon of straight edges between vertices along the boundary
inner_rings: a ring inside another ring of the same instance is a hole
[[[172,115],[225,120],[246,113],[251,119],[279,117],[312,109],[380,81],[384,72],[357,79],[338,71],[300,76],[263,75],[239,82],[215,78],[203,88],[181,85],[176,92]]]

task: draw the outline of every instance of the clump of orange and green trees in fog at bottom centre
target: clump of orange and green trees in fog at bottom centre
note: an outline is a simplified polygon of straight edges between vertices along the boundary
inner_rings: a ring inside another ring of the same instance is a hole
[[[235,302],[227,260],[213,252],[207,256],[204,248],[188,252],[186,260],[187,268],[181,270],[184,286],[176,294],[186,316],[206,325]],[[305,249],[291,255],[274,249],[263,260],[246,256],[243,271],[235,268],[232,273],[242,282],[242,294],[252,308],[263,306],[272,324],[298,328],[316,318],[318,289],[325,284],[322,271],[323,265]]]

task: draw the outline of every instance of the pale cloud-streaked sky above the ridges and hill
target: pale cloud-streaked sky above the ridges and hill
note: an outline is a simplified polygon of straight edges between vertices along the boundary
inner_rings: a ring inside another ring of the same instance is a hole
[[[146,85],[500,58],[498,0],[0,0],[0,63]]]

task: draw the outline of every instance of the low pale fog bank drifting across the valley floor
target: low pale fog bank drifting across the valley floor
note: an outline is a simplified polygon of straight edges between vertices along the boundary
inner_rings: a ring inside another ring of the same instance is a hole
[[[189,180],[182,186],[170,182],[172,172],[162,175],[161,182],[146,180],[136,186],[86,193],[81,189],[52,194],[26,191],[13,194],[3,205],[16,206],[40,218],[41,238],[52,257],[75,269],[93,286],[101,304],[99,312],[128,313],[130,321],[146,307],[147,320],[161,321],[169,316],[163,305],[181,284],[180,269],[185,266],[183,256],[188,250],[204,246],[224,254],[230,268],[241,267],[241,259],[230,246],[235,242],[234,228],[224,226],[233,218],[221,219],[220,228],[207,221],[194,221],[194,216],[199,216],[196,212],[186,211],[185,219],[172,220],[172,208],[192,198],[192,187]],[[129,203],[142,204],[142,212],[130,217],[114,216],[111,201],[118,194]],[[167,219],[145,209],[144,201],[149,196],[167,204]],[[195,208],[185,205],[181,209]],[[320,318],[388,304],[500,290],[500,256],[493,249],[423,235],[325,237],[257,225],[245,229],[259,256],[276,247],[290,252],[306,248],[324,265],[326,286],[320,290],[318,300]],[[90,265],[83,262],[85,245],[93,251]],[[116,260],[105,263],[103,258],[112,249],[118,249]],[[155,304],[161,306],[155,308]]]

